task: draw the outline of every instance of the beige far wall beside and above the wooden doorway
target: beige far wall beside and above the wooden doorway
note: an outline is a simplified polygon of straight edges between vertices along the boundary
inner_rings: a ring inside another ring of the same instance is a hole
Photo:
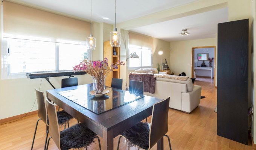
[[[171,42],[171,70],[174,71],[175,75],[185,72],[187,76],[191,77],[192,47],[215,45],[215,38]]]

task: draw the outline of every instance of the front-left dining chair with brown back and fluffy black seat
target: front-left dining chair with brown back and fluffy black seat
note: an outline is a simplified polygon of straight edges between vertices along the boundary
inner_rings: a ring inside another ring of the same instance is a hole
[[[71,148],[86,148],[97,138],[99,149],[101,150],[101,142],[96,133],[90,130],[84,124],[75,124],[65,130],[59,131],[58,117],[56,107],[52,102],[46,99],[47,112],[49,117],[49,133],[46,150],[48,150],[50,139],[52,138],[59,150],[69,150]]]

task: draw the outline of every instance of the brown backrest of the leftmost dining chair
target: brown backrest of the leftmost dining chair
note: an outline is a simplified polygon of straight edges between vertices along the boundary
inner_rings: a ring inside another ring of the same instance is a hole
[[[44,97],[44,92],[41,92],[35,89],[35,93],[37,95],[37,107],[38,107],[38,117],[44,121],[44,123],[48,126],[47,123],[47,110],[46,110],[46,102]]]

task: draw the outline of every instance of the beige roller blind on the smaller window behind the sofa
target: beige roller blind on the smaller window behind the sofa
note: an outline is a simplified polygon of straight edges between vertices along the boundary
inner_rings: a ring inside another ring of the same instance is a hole
[[[129,33],[130,47],[138,48],[153,48],[153,38],[148,36],[139,35],[136,33]]]

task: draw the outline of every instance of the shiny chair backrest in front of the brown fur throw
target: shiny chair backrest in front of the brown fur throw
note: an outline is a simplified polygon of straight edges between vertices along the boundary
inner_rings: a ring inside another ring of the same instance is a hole
[[[144,83],[141,81],[130,80],[129,92],[134,95],[143,95]]]

